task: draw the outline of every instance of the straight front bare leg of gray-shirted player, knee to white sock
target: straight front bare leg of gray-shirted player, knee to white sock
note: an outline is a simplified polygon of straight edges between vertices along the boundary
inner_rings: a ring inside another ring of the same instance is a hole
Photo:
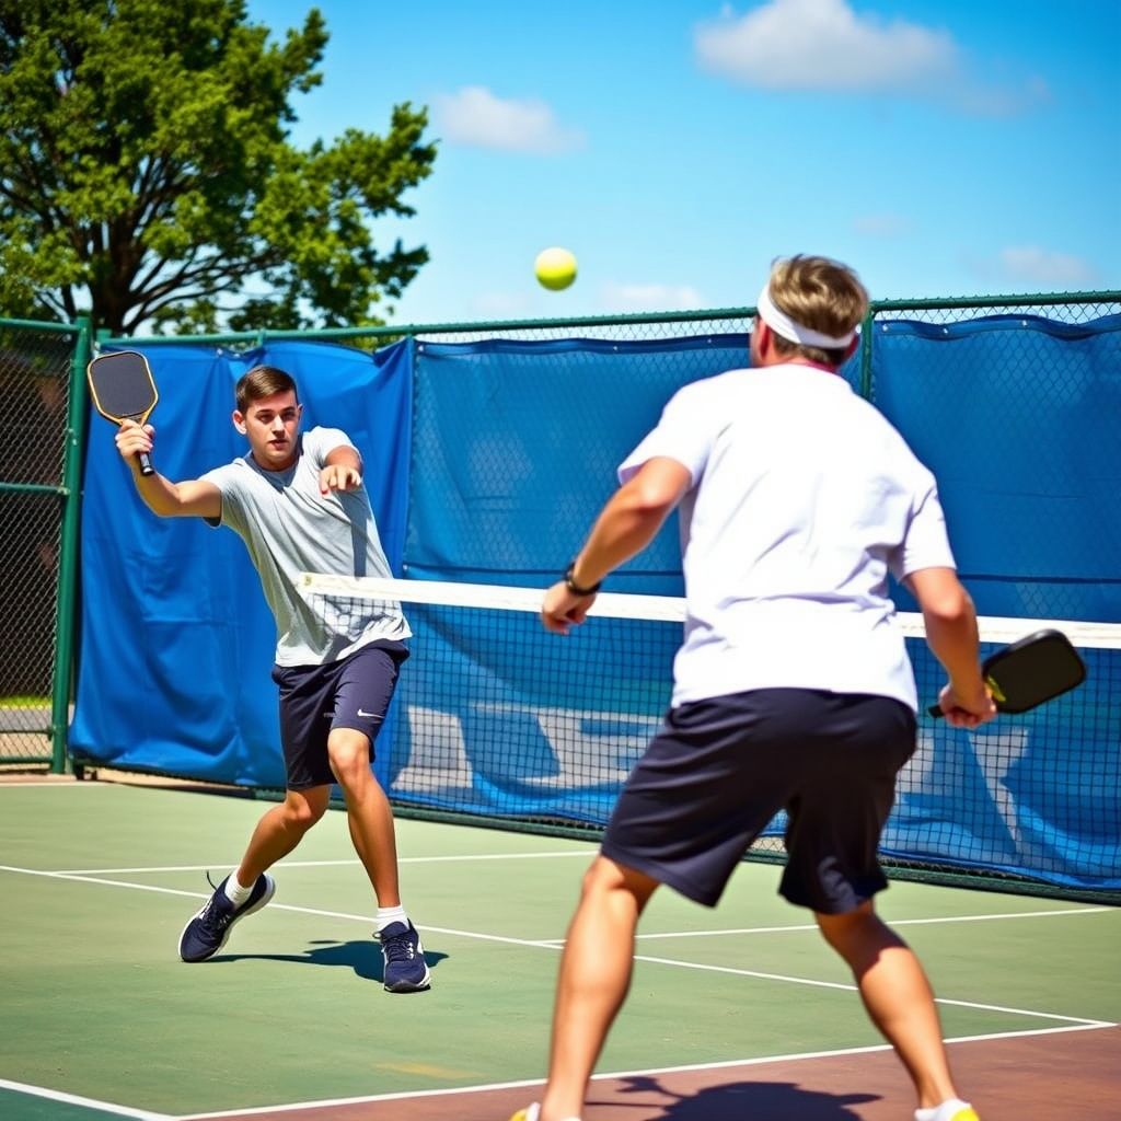
[[[355,729],[336,728],[327,738],[327,754],[346,799],[351,842],[370,878],[378,906],[397,907],[401,896],[393,812],[370,770],[370,741]]]

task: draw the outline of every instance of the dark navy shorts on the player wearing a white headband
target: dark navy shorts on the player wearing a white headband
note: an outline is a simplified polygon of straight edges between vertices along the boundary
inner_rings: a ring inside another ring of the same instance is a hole
[[[821,689],[680,705],[628,778],[603,854],[713,907],[785,809],[780,892],[822,914],[851,911],[887,887],[877,846],[915,729],[899,701]]]

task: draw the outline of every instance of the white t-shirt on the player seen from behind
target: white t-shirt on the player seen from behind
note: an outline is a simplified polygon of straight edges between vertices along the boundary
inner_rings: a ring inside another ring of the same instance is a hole
[[[814,367],[731,370],[678,390],[620,481],[655,456],[693,478],[675,706],[816,688],[917,707],[888,574],[955,565],[934,476],[873,406]]]

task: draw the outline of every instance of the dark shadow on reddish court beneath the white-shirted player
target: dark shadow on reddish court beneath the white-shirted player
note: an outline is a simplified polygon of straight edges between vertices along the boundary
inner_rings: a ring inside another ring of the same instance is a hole
[[[725,1082],[705,1086],[696,1093],[678,1094],[658,1078],[627,1077],[619,1082],[618,1096],[611,1104],[626,1104],[628,1094],[664,1095],[670,1099],[664,1112],[643,1114],[651,1121],[740,1121],[743,1118],[797,1118],[798,1121],[860,1121],[849,1109],[879,1100],[877,1094],[833,1094],[807,1090],[794,1082]],[[589,1106],[596,1102],[594,1088]],[[643,1103],[647,1104],[648,1103]]]

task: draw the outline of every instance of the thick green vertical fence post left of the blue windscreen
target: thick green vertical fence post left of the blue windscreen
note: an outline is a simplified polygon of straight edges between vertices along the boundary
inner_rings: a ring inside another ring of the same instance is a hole
[[[74,679],[74,633],[77,629],[78,525],[82,507],[82,451],[85,447],[85,367],[90,361],[90,318],[75,321],[77,342],[71,359],[70,415],[63,460],[63,526],[58,548],[58,600],[55,615],[55,671],[50,696],[50,770],[66,770],[71,686]]]

